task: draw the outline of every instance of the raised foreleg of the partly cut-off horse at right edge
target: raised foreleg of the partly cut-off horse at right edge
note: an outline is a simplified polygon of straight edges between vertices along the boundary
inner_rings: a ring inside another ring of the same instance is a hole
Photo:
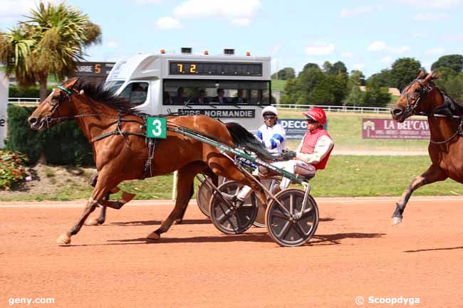
[[[405,189],[402,193],[402,196],[400,196],[399,202],[396,203],[397,206],[392,214],[392,225],[397,225],[402,222],[402,213],[405,210],[405,206],[407,205],[410,196],[412,196],[413,191],[416,191],[421,186],[425,186],[427,184],[444,181],[444,179],[447,179],[447,175],[442,169],[440,169],[439,166],[434,164],[432,164],[424,174],[415,176],[410,185],[407,186],[407,189]]]

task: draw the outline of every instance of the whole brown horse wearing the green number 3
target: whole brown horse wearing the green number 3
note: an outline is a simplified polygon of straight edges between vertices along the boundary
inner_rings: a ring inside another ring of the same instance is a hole
[[[231,159],[215,147],[176,132],[168,131],[167,139],[157,141],[155,151],[152,152],[151,164],[146,164],[149,149],[145,144],[145,122],[137,115],[120,112],[130,110],[129,108],[127,102],[114,97],[112,92],[73,78],[54,89],[29,117],[31,129],[35,130],[63,120],[76,120],[92,144],[98,169],[95,189],[82,216],[67,233],[58,237],[58,243],[71,243],[71,236],[78,233],[96,206],[120,208],[123,203],[129,201],[130,195],[123,195],[123,201],[118,202],[105,198],[108,193],[118,189],[120,182],[170,174],[176,170],[178,182],[175,208],[160,228],[148,235],[150,239],[159,239],[160,234],[169,230],[172,223],[183,215],[191,197],[194,176],[204,169],[209,168],[214,174],[251,186],[261,201],[265,202],[266,196],[259,184],[239,171]],[[251,147],[254,152],[264,156],[268,154],[251,133],[236,123],[226,126],[202,115],[169,116],[167,126],[187,127],[221,140],[230,147]]]

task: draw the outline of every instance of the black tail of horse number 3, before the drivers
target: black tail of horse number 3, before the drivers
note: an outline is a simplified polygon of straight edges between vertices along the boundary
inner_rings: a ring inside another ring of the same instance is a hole
[[[275,159],[275,156],[272,154],[259,142],[254,134],[251,134],[240,124],[235,122],[225,123],[227,129],[229,130],[231,137],[237,147],[244,147],[251,152],[256,153],[258,156],[261,156],[264,159]]]

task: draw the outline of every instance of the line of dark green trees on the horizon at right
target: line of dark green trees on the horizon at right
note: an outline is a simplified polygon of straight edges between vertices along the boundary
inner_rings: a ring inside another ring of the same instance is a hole
[[[435,80],[454,100],[463,101],[463,55],[443,55],[432,70],[441,74]],[[398,58],[390,69],[381,70],[365,80],[360,70],[348,73],[341,61],[326,61],[323,67],[307,63],[296,77],[293,68],[283,68],[272,75],[286,80],[282,104],[386,107],[392,99],[389,87],[400,89],[424,70],[415,58]],[[365,91],[360,86],[365,86]]]

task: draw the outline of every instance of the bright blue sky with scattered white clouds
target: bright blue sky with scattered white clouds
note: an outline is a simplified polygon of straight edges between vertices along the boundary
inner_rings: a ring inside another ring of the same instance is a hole
[[[103,29],[88,60],[138,52],[271,56],[272,71],[342,60],[366,76],[412,57],[425,68],[441,55],[463,53],[463,0],[68,0]],[[3,0],[0,29],[14,26],[33,0]]]

